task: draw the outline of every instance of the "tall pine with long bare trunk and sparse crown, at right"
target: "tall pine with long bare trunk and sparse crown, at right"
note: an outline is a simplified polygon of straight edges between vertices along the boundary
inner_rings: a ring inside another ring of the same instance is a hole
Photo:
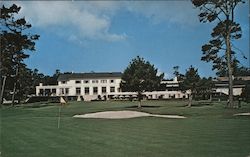
[[[233,60],[235,52],[232,50],[232,41],[241,38],[240,24],[235,22],[235,8],[243,0],[192,0],[201,13],[201,22],[218,21],[211,36],[212,40],[202,46],[203,57],[206,62],[213,62],[213,69],[226,67],[229,84],[228,107],[233,107]],[[222,52],[222,53],[220,53]]]

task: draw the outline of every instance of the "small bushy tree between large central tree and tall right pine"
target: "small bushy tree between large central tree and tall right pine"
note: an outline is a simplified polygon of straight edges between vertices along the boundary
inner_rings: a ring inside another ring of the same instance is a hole
[[[180,89],[184,92],[190,92],[188,107],[192,106],[192,100],[195,97],[195,94],[199,91],[200,87],[200,76],[198,74],[198,69],[195,69],[193,66],[190,66],[187,69],[185,75],[180,82]]]

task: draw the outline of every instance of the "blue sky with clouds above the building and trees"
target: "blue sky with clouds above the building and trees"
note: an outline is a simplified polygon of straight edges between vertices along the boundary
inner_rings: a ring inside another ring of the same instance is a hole
[[[8,2],[10,3],[10,2]],[[23,1],[21,15],[39,34],[36,52],[25,62],[45,74],[123,71],[137,55],[150,61],[166,78],[173,66],[190,65],[201,76],[215,76],[200,61],[201,46],[215,23],[200,23],[190,1]],[[234,45],[249,56],[249,4],[236,10],[243,37]],[[238,59],[249,67],[249,59]]]

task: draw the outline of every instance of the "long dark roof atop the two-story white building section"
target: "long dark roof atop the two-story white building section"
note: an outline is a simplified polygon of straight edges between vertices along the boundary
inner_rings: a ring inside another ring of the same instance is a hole
[[[91,72],[91,73],[64,73],[58,76],[57,81],[72,79],[98,79],[98,78],[121,78],[121,72]]]

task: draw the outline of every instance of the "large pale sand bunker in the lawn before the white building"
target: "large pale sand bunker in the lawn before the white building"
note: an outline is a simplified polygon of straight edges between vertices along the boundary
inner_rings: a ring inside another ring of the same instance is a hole
[[[145,112],[137,111],[105,111],[88,113],[84,115],[75,115],[74,118],[105,118],[105,119],[125,119],[125,118],[136,118],[136,117],[162,117],[162,118],[186,118],[178,115],[157,115]]]

